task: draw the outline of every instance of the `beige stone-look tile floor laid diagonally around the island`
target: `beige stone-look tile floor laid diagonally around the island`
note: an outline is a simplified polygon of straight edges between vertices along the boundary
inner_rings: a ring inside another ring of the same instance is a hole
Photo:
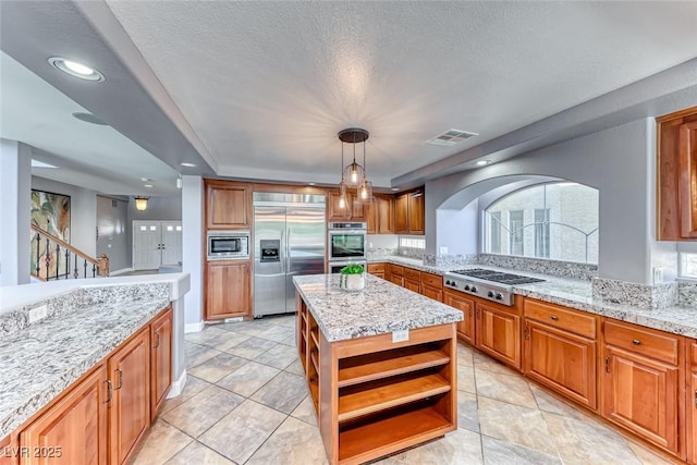
[[[295,350],[295,317],[186,335],[188,379],[133,463],[326,464]],[[458,429],[380,464],[664,464],[519,374],[458,344]]]

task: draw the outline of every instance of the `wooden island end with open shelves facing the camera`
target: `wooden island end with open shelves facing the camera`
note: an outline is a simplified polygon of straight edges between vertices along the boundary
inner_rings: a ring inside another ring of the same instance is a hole
[[[320,332],[319,428],[331,464],[362,464],[457,428],[454,325],[330,343]]]

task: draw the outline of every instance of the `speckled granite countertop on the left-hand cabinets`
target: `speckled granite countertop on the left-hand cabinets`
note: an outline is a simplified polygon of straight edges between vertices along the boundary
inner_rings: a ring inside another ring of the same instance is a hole
[[[98,303],[0,336],[0,439],[146,325],[170,301]]]

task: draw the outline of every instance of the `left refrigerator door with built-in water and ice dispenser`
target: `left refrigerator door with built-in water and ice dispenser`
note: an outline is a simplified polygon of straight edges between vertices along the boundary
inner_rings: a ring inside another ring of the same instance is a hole
[[[261,241],[280,246],[278,260],[261,261]],[[254,316],[285,313],[285,207],[254,208]]]

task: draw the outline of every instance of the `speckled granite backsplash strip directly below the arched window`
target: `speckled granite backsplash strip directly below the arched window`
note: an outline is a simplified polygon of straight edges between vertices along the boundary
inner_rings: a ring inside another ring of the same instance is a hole
[[[598,276],[598,265],[576,261],[548,260],[543,258],[513,257],[510,255],[479,254],[478,265],[510,268],[531,273],[583,279],[590,281]]]

